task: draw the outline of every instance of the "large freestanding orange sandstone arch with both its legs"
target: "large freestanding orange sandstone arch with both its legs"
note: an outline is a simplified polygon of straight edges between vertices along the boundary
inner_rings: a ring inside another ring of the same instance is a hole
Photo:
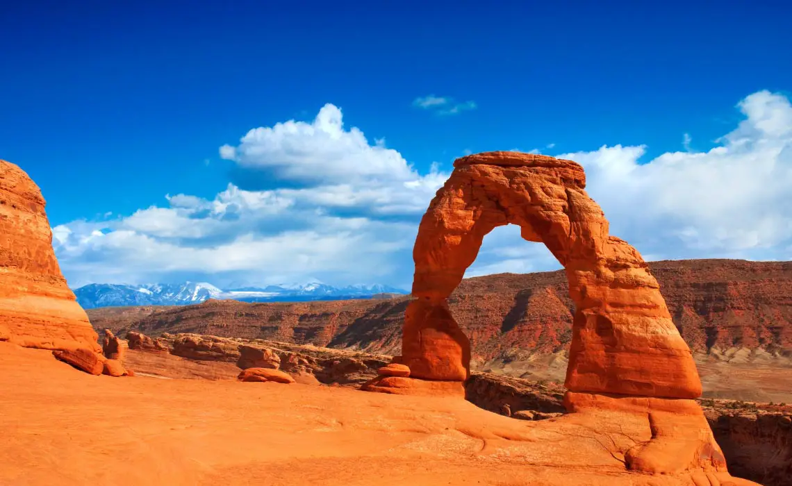
[[[421,220],[413,249],[413,296],[402,362],[413,378],[463,381],[470,343],[446,298],[475,260],[485,234],[516,224],[564,266],[576,306],[566,387],[570,392],[695,398],[701,382],[657,280],[632,246],[608,234],[586,194],[581,165],[534,154],[459,158]]]

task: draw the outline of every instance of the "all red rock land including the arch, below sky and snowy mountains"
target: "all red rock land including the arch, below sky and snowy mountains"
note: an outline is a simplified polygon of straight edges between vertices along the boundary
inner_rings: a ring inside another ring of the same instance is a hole
[[[792,264],[647,265],[576,163],[455,168],[411,296],[86,314],[0,161],[0,484],[790,484]],[[507,223],[566,270],[463,279]]]

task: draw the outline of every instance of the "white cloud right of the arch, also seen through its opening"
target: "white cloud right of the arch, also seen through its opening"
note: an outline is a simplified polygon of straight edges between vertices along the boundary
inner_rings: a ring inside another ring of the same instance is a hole
[[[586,190],[611,222],[611,234],[647,259],[792,260],[792,105],[782,94],[760,91],[737,108],[744,120],[706,152],[641,161],[645,146],[617,145],[556,157],[583,165]],[[683,139],[689,143],[691,135]],[[497,229],[482,253],[521,245]],[[510,261],[515,271],[527,264],[558,268],[540,253],[538,260],[531,254]]]

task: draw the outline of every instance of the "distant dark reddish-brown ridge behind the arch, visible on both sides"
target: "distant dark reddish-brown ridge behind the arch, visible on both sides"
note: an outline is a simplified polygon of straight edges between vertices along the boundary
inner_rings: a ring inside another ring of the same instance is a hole
[[[792,353],[792,262],[678,260],[652,262],[649,269],[695,353],[737,361],[748,359],[745,350],[760,358]],[[408,302],[209,301],[136,319],[126,318],[131,311],[114,319],[114,309],[90,309],[89,316],[113,331],[197,332],[396,355]],[[448,302],[479,362],[550,355],[564,351],[572,336],[573,302],[562,271],[464,279]]]

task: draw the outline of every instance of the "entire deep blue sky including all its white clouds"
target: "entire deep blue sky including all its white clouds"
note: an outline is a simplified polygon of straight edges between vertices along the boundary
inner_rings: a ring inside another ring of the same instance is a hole
[[[284,3],[0,6],[0,158],[70,285],[409,287],[484,150],[581,161],[648,259],[792,259],[783,2]],[[470,275],[557,266],[499,229]]]

